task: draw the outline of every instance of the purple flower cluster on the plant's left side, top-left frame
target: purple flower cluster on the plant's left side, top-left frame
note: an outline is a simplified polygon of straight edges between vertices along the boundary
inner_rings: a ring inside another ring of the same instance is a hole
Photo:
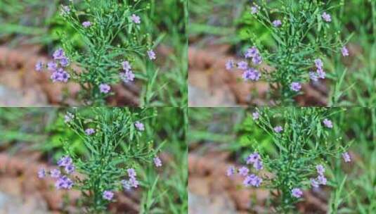
[[[35,65],[35,70],[42,71],[45,68],[51,72],[52,82],[68,82],[70,74],[66,69],[70,65],[70,59],[65,56],[63,49],[57,49],[53,53],[53,61],[49,61],[46,65],[41,61]]]

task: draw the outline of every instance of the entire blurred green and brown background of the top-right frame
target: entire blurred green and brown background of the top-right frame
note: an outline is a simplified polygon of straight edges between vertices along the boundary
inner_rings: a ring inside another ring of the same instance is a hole
[[[267,49],[273,39],[249,13],[249,0],[191,0],[189,5],[189,106],[268,105],[266,82],[249,83],[241,73],[228,73],[225,63],[240,58],[249,47],[251,30]],[[325,59],[328,78],[319,84],[305,84],[299,106],[376,105],[376,1],[327,1],[344,6],[330,11],[335,30],[342,39],[352,35],[350,56],[333,53]],[[278,1],[268,1],[278,7]]]

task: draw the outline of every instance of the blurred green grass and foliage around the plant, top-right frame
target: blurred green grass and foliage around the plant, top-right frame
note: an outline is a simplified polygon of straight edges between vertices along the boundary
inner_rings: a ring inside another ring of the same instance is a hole
[[[190,39],[203,46],[208,39],[231,44],[240,55],[250,44],[245,38],[251,30],[264,46],[273,46],[271,34],[249,14],[253,1],[190,1]],[[334,53],[325,59],[330,90],[328,106],[376,105],[376,1],[335,0],[343,6],[333,8],[331,26],[349,41],[350,56]],[[278,4],[278,1],[269,1]],[[212,13],[215,11],[216,13]],[[212,44],[212,41],[211,41]]]

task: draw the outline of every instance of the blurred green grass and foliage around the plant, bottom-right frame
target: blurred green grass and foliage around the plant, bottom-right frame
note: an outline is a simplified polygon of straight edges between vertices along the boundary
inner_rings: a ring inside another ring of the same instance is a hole
[[[205,145],[215,143],[231,158],[243,164],[255,145],[271,155],[271,138],[253,122],[254,108],[190,108],[188,146],[201,153]],[[330,141],[353,141],[349,149],[352,162],[342,158],[328,163],[332,191],[328,213],[373,213],[376,210],[376,108],[328,108],[337,112],[330,118],[334,125]],[[204,145],[204,146],[203,146]]]

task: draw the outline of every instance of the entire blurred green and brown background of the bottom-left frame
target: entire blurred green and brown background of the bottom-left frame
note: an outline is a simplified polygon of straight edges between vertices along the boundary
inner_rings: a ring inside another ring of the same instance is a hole
[[[56,167],[63,156],[62,140],[72,144],[79,156],[87,151],[82,140],[67,128],[69,108],[0,108],[0,213],[82,213],[78,191],[58,191],[53,182],[37,177],[39,168]],[[93,116],[93,108],[78,108]],[[134,108],[132,111],[138,111]],[[187,213],[188,182],[186,130],[183,108],[157,108],[157,117],[145,122],[145,141],[155,146],[165,141],[160,158],[163,166],[141,168],[143,187],[117,192],[110,213]],[[157,148],[157,147],[155,147]],[[157,181],[155,188],[151,188]],[[68,196],[65,196],[68,193]]]

